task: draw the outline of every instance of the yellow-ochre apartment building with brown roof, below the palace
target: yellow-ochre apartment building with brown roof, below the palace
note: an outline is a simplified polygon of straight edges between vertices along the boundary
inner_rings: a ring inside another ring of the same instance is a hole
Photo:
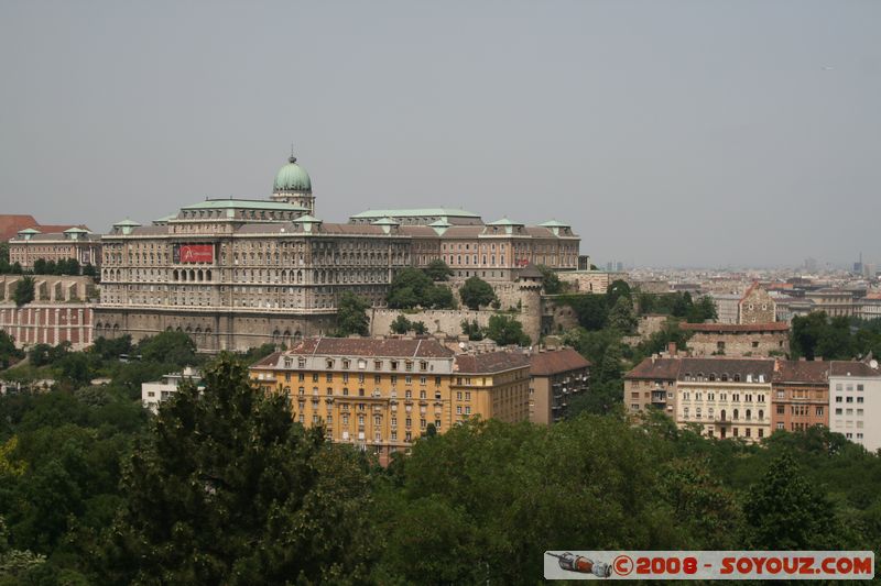
[[[293,417],[387,464],[429,425],[468,418],[529,420],[530,361],[522,352],[459,354],[432,338],[308,338],[251,367],[267,392],[290,397]]]

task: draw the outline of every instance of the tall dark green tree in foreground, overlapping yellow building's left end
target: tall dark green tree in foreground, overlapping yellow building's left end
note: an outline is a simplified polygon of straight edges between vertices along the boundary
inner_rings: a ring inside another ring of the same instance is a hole
[[[293,422],[287,399],[221,357],[184,384],[126,464],[100,550],[109,584],[365,582],[370,485],[361,455]]]

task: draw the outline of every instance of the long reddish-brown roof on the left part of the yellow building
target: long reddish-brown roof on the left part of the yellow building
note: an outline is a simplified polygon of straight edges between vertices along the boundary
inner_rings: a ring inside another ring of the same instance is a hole
[[[434,338],[306,338],[286,354],[317,356],[377,356],[388,358],[448,358],[454,352]]]

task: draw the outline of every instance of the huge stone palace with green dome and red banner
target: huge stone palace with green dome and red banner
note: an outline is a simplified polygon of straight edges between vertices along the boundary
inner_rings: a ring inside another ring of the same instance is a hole
[[[187,332],[199,350],[290,345],[334,328],[347,291],[384,305],[396,270],[444,259],[454,281],[518,281],[530,263],[575,269],[580,239],[561,222],[485,224],[463,210],[378,210],[347,223],[314,214],[312,179],[291,157],[269,199],[206,199],[101,239],[95,335]],[[454,287],[456,283],[454,283]]]

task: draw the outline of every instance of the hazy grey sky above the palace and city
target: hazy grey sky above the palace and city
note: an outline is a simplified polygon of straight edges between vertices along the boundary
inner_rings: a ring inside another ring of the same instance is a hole
[[[0,0],[0,213],[264,197],[569,221],[639,265],[881,261],[881,2]]]

